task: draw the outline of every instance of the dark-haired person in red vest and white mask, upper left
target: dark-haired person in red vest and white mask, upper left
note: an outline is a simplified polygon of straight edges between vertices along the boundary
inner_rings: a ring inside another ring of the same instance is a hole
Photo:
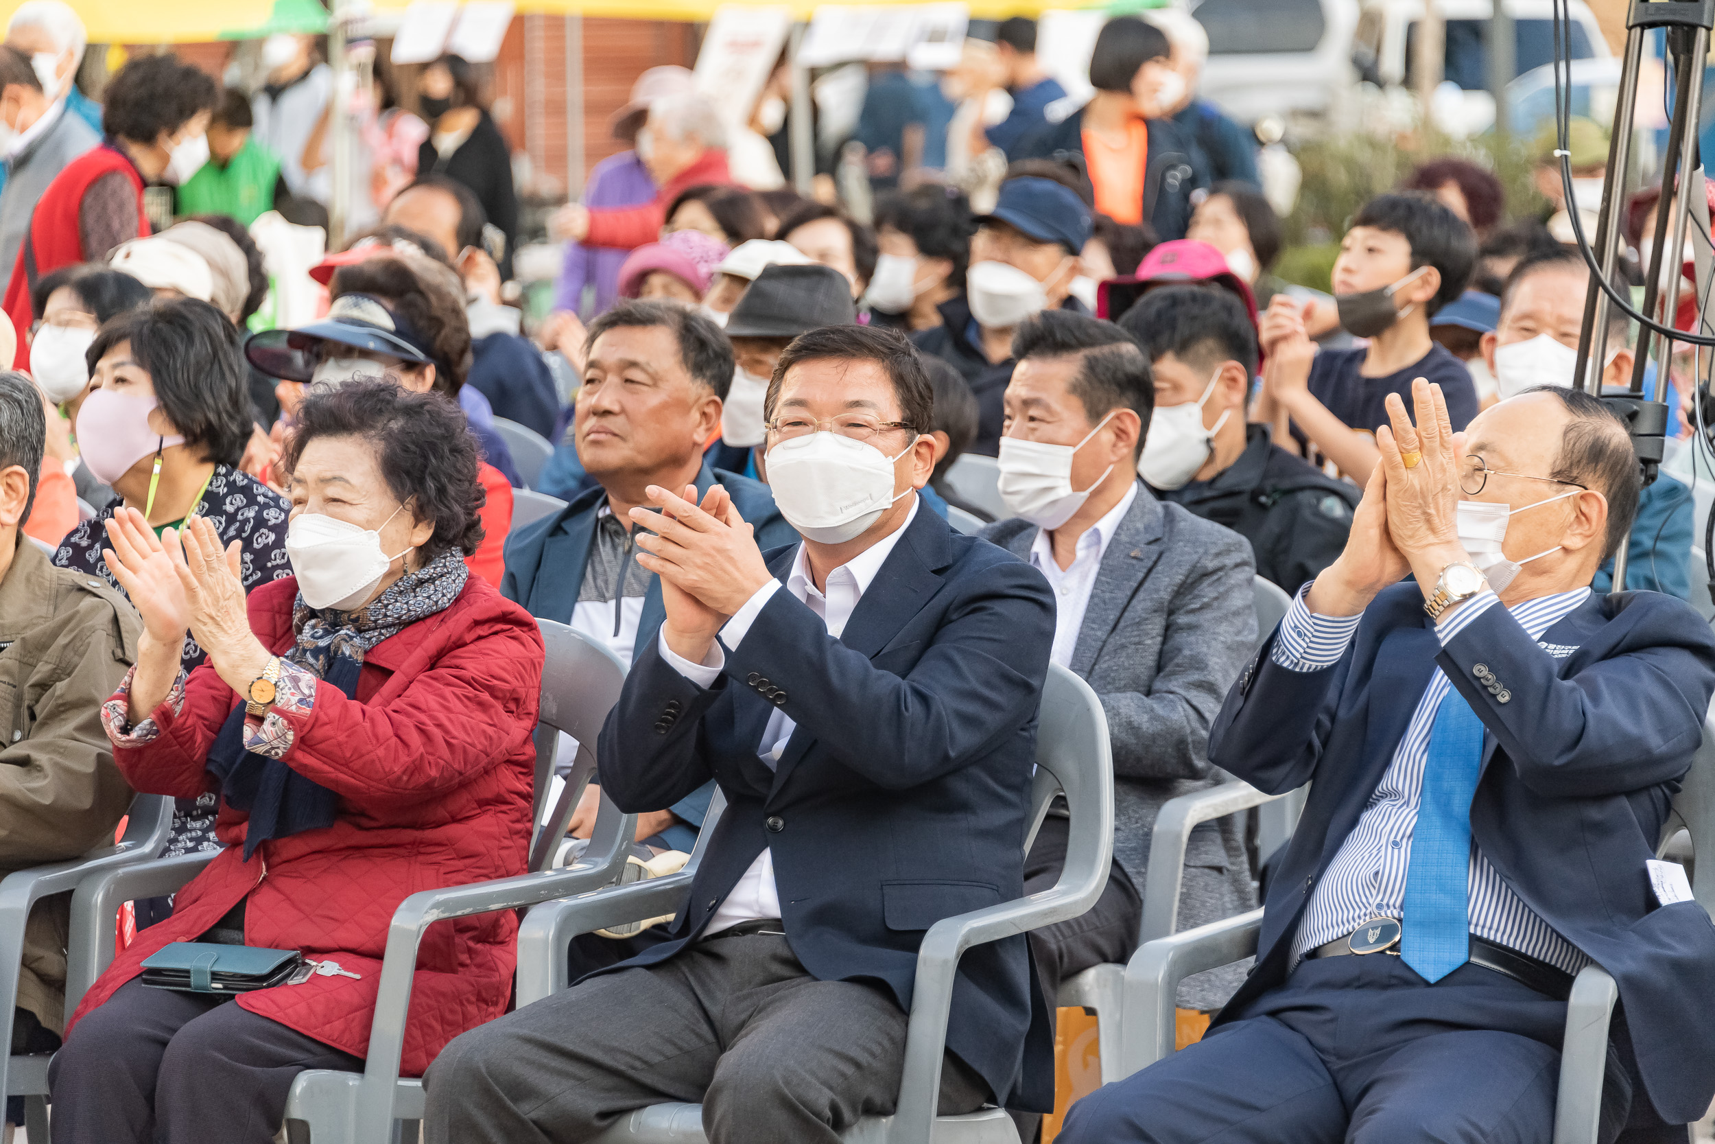
[[[31,286],[62,266],[106,262],[113,247],[149,233],[142,189],[182,184],[208,163],[216,94],[213,79],[172,55],[139,57],[108,82],[106,137],[48,184],[12,266],[3,305],[19,333],[17,369],[29,369]]]

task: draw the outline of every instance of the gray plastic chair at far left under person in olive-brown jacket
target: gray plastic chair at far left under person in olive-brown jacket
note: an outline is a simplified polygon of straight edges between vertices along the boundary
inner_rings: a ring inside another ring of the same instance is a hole
[[[45,866],[19,870],[0,880],[0,1050],[12,1045],[12,1017],[15,1014],[12,998],[17,996],[17,981],[24,966],[24,923],[29,911],[41,899],[51,894],[75,890],[89,876],[105,870],[117,870],[132,863],[142,863],[163,849],[173,828],[173,799],[159,794],[137,794],[130,799],[125,820],[125,835],[113,846],[89,851],[82,858]],[[113,928],[106,931],[108,947],[113,945]],[[77,950],[75,942],[72,948]],[[67,991],[65,1012],[70,1014],[75,1000]],[[84,990],[77,990],[81,998]],[[24,1098],[24,1129],[31,1141],[48,1139],[48,1060],[51,1053],[33,1053],[27,1057],[9,1057],[0,1051],[0,1098]],[[0,1099],[3,1103],[3,1099]]]

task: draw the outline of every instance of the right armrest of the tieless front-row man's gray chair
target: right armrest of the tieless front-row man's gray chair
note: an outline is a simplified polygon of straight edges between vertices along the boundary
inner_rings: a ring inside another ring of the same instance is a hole
[[[1056,885],[1012,902],[942,918],[923,935],[923,945],[918,948],[918,976],[911,990],[906,1069],[894,1113],[894,1123],[902,1125],[902,1139],[921,1137],[926,1144],[933,1132],[947,1051],[947,1019],[954,1005],[954,978],[964,952],[972,945],[1077,918],[1091,907],[1103,885],[1104,880],[1094,892],[1087,885]]]

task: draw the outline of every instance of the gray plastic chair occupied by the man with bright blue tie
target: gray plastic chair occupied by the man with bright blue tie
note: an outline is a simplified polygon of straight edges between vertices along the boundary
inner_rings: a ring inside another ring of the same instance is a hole
[[[1715,719],[1705,719],[1703,746],[1691,760],[1684,786],[1657,852],[1679,851],[1681,832],[1693,847],[1715,837]],[[1715,863],[1693,863],[1691,892],[1705,911],[1715,911]],[[1194,972],[1218,969],[1257,952],[1262,911],[1187,930],[1151,942],[1125,967],[1125,1072],[1152,1065],[1173,1051],[1173,996]],[[1619,990],[1600,966],[1586,966],[1573,979],[1561,1051],[1561,1091],[1554,1110],[1554,1144],[1595,1144],[1602,1115],[1602,1074],[1607,1065],[1609,1021]]]

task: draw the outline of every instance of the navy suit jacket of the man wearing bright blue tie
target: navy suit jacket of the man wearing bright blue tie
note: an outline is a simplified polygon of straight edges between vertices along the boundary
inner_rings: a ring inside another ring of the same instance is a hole
[[[1375,597],[1333,667],[1288,671],[1273,650],[1271,636],[1228,693],[1209,762],[1271,794],[1314,786],[1269,887],[1257,967],[1216,1021],[1285,981],[1305,904],[1439,667],[1485,727],[1471,839],[1614,976],[1662,1118],[1700,1118],[1715,1096],[1715,926],[1696,902],[1657,906],[1645,863],[1715,693],[1710,626],[1657,592],[1595,593],[1540,645],[1492,605],[1442,648],[1408,581]]]

